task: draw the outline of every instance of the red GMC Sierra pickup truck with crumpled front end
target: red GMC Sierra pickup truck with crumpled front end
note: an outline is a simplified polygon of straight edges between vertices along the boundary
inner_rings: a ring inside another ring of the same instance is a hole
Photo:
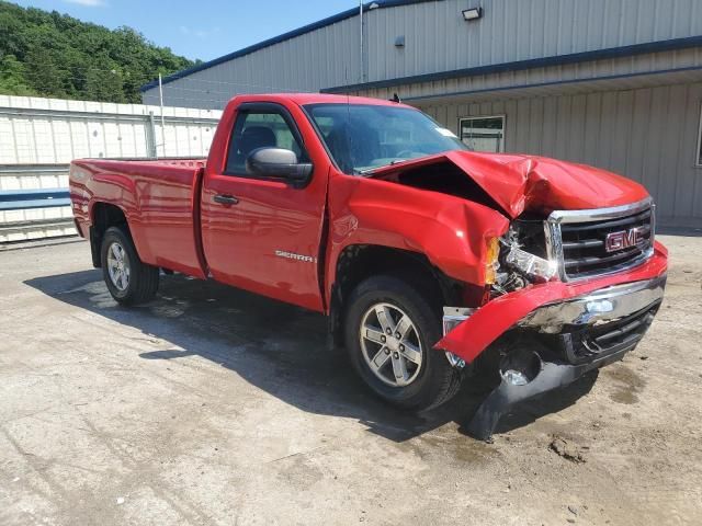
[[[469,151],[393,101],[236,96],[208,159],[76,160],[70,195],[116,301],[149,300],[163,270],[324,312],[400,408],[491,379],[468,423],[479,438],[634,348],[666,283],[644,187]]]

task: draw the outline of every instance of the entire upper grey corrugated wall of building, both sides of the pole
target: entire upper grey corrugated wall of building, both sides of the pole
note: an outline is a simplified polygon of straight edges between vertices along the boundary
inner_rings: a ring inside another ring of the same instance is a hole
[[[473,4],[483,5],[485,14],[468,23],[461,11]],[[377,81],[700,35],[702,2],[443,0],[375,9],[364,21],[363,80]],[[394,46],[399,35],[405,36],[404,48]],[[359,49],[355,16],[169,82],[166,103],[220,108],[236,93],[356,83],[362,80]],[[636,60],[652,62],[646,57],[633,60],[634,69],[646,67]],[[554,71],[563,78],[569,73]],[[619,70],[612,67],[614,72]],[[158,89],[145,92],[144,101],[156,104]]]

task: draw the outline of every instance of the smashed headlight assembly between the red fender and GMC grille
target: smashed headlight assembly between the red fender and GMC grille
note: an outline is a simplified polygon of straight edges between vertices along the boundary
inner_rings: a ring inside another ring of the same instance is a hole
[[[500,268],[494,288],[501,294],[551,281],[557,265],[546,255],[543,219],[520,218],[500,238]]]

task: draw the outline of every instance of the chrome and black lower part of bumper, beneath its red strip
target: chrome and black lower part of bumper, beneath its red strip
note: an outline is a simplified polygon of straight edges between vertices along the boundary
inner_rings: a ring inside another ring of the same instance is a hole
[[[663,274],[607,287],[545,305],[518,321],[509,331],[512,347],[498,351],[500,384],[480,404],[468,432],[489,439],[516,403],[621,359],[653,322],[665,284]]]

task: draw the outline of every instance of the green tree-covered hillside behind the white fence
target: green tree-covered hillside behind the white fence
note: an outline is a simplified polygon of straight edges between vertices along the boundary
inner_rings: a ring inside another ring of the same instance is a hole
[[[138,103],[139,88],[159,72],[193,64],[131,27],[0,0],[0,93]]]

